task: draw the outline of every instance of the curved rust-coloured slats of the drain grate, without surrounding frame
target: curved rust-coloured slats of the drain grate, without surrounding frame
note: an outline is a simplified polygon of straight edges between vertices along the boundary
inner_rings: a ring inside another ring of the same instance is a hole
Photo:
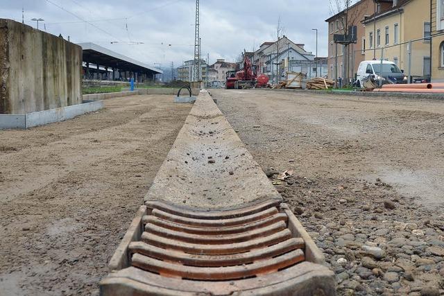
[[[257,277],[305,261],[305,242],[270,200],[233,211],[187,211],[147,202],[131,265],[162,277],[229,281]]]

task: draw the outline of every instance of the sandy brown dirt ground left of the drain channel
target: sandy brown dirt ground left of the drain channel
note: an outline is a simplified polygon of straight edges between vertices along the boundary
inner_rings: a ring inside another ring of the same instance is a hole
[[[96,295],[190,109],[131,96],[0,131],[0,295]]]

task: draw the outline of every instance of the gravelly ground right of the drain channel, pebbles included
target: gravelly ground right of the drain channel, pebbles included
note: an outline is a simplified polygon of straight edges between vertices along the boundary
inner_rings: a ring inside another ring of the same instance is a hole
[[[444,294],[444,101],[212,94],[325,253],[339,295]]]

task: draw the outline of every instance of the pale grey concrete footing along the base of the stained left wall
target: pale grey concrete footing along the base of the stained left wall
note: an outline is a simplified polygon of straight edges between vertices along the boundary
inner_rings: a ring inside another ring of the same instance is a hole
[[[0,130],[26,129],[72,119],[103,108],[103,101],[91,101],[28,114],[0,114]]]

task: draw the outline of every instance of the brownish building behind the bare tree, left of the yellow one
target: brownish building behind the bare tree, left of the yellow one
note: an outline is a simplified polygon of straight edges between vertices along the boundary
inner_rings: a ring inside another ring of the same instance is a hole
[[[359,63],[366,60],[366,28],[361,21],[375,12],[387,10],[391,7],[391,3],[388,2],[390,1],[360,0],[348,10],[336,13],[325,20],[328,23],[328,78],[335,80],[340,77],[349,79],[355,77]],[[357,26],[356,44],[344,46],[334,43],[334,34],[345,34],[345,27],[349,26]]]

